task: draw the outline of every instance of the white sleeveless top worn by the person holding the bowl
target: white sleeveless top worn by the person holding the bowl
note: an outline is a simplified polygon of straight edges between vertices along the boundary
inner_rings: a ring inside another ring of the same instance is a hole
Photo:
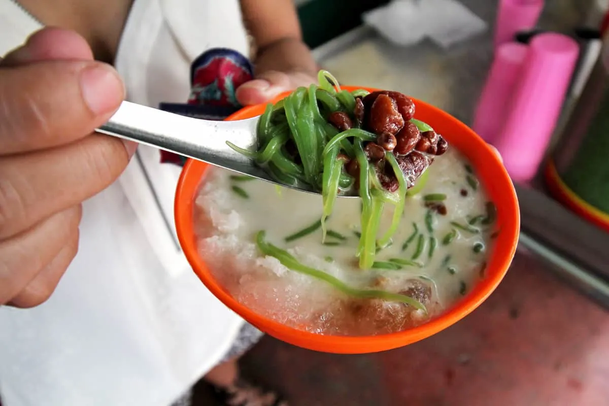
[[[40,24],[0,0],[0,55]],[[238,0],[136,0],[115,66],[127,99],[158,107],[189,95],[209,47],[247,55]],[[0,307],[4,406],[167,406],[230,348],[243,321],[192,273],[175,236],[180,168],[139,147],[86,201],[80,250],[47,303]]]

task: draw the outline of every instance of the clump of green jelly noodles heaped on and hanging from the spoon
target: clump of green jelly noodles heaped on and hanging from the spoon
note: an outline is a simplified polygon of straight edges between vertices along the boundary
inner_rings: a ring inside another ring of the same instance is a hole
[[[255,159],[278,181],[321,189],[323,210],[320,222],[287,237],[286,242],[297,240],[318,228],[322,229],[322,243],[326,245],[334,245],[337,239],[344,239],[334,231],[328,233],[325,223],[334,209],[338,195],[348,191],[355,183],[355,179],[345,170],[342,156],[355,159],[360,168],[359,196],[362,199],[361,236],[356,256],[359,258],[359,267],[368,270],[375,264],[378,247],[386,247],[400,226],[407,196],[421,191],[428,172],[424,171],[415,185],[408,189],[408,182],[395,156],[392,152],[387,152],[386,164],[396,175],[398,190],[393,193],[386,191],[364,153],[363,143],[375,141],[376,135],[357,127],[341,132],[328,122],[328,116],[336,111],[353,117],[356,97],[363,97],[368,92],[363,89],[353,92],[341,89],[336,78],[323,70],[319,72],[318,82],[319,86],[298,88],[274,106],[267,105],[258,122],[259,149],[256,152],[229,145]],[[433,130],[422,121],[412,119],[412,123],[421,131]],[[289,142],[295,145],[296,155],[293,149],[290,152],[287,148]],[[306,158],[297,159],[298,156]],[[389,228],[379,236],[385,205],[393,206],[393,218]],[[431,220],[428,219],[428,222]],[[428,228],[429,226],[428,223]],[[328,237],[334,241],[326,241]]]

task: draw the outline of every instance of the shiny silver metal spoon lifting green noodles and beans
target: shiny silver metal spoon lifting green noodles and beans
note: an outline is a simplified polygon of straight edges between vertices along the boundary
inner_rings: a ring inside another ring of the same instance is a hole
[[[305,183],[294,186],[278,182],[252,159],[227,145],[227,141],[230,141],[238,147],[255,151],[258,147],[258,119],[259,116],[239,121],[202,120],[122,102],[119,110],[97,132],[199,159],[290,189],[320,194]],[[340,197],[357,196],[341,194]]]

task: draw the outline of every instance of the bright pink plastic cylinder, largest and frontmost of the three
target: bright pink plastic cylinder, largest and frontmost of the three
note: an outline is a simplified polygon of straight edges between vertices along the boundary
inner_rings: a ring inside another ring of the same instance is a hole
[[[546,153],[577,62],[579,46],[558,33],[529,44],[521,80],[495,147],[514,181],[529,181]]]

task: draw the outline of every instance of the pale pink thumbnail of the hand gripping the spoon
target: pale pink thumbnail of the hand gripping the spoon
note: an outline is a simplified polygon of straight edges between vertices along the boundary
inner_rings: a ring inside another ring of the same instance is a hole
[[[116,110],[124,97],[121,78],[111,66],[96,64],[80,72],[80,88],[86,105],[95,114]]]

